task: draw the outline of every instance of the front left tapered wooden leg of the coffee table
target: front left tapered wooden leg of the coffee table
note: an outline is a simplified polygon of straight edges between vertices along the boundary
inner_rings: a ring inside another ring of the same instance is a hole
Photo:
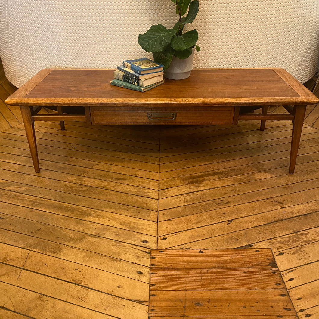
[[[33,167],[36,173],[40,172],[37,144],[34,133],[34,121],[32,119],[33,107],[20,106],[24,128],[26,130],[26,138],[28,140]]]

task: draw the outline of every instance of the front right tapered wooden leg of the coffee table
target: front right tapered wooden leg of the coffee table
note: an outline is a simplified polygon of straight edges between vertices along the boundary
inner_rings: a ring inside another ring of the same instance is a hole
[[[307,105],[295,105],[293,107],[293,134],[291,137],[291,149],[290,149],[290,164],[289,174],[293,174],[296,166],[296,159],[298,154],[300,136],[302,131],[303,120],[305,118]]]

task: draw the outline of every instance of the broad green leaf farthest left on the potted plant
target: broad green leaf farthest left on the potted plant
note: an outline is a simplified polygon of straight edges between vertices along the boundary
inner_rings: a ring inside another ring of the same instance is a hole
[[[161,52],[170,44],[174,33],[174,29],[167,30],[158,24],[151,26],[144,34],[139,34],[137,42],[146,52]]]

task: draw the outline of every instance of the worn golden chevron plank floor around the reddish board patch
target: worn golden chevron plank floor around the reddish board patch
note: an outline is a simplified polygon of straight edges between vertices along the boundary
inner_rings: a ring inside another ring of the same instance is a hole
[[[1,319],[147,319],[150,250],[170,248],[271,248],[299,318],[319,318],[319,106],[294,175],[283,121],[36,122],[36,174],[0,82]]]

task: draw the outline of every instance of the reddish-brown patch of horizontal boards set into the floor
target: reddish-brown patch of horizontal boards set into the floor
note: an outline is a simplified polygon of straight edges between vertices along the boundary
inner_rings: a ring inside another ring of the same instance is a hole
[[[226,267],[218,268],[219,261]],[[297,318],[270,249],[151,250],[150,271],[151,318]]]

